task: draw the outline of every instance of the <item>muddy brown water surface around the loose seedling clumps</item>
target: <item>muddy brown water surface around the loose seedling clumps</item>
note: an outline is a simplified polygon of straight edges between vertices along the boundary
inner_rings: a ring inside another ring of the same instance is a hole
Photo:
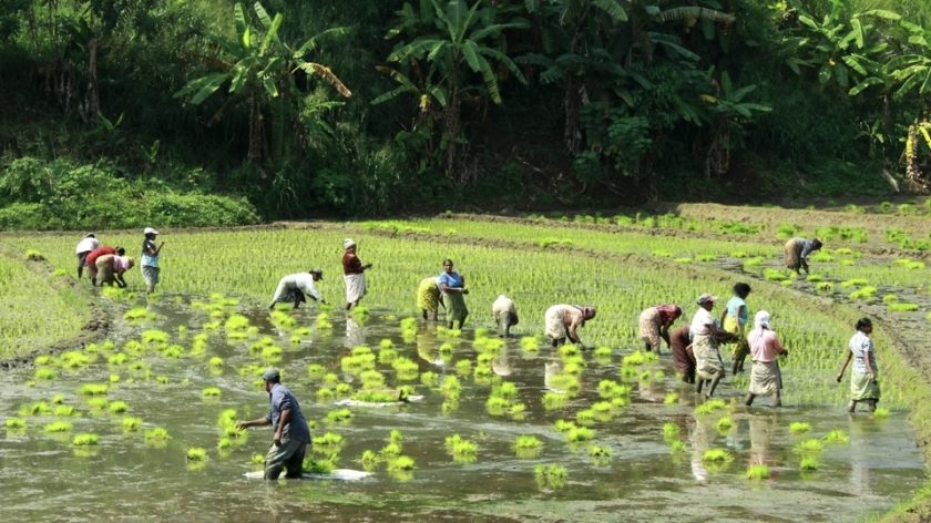
[[[191,338],[208,319],[184,304],[153,305],[151,310],[158,320],[123,327],[114,336],[117,350],[147,328],[163,329],[176,340],[181,325],[190,331],[180,343],[190,350]],[[397,429],[403,433],[403,453],[416,460],[417,468],[409,474],[395,475],[382,465],[372,478],[358,482],[305,480],[266,484],[244,478],[245,472],[255,470],[252,455],[267,450],[270,430],[254,429],[244,444],[221,453],[216,450],[216,420],[228,408],[238,409],[242,419],[264,416],[265,392],[253,382],[254,377],[243,377],[237,371],[262,361],[247,350],[257,338],[228,341],[221,330],[212,336],[203,356],[172,359],[146,352],[143,359],[152,367],[149,379],[133,378],[126,366],[109,367],[106,358],[80,371],[60,371],[58,380],[40,381],[33,387],[28,387],[28,381],[34,369],[6,372],[0,386],[0,416],[16,416],[23,404],[64,394],[64,403],[81,412],[69,419],[74,424],[72,433],[95,432],[100,444],[82,451],[71,444],[70,434],[45,433],[43,427],[59,420],[51,414],[30,416],[25,431],[0,434],[0,520],[850,521],[882,513],[908,498],[924,476],[903,410],[893,410],[887,419],[848,417],[833,404],[799,406],[791,401],[792,394],[787,394],[787,406],[778,411],[767,408],[766,399],[758,400],[760,404],[753,409],[736,409],[729,414],[734,428],[720,433],[714,427],[720,413],[694,414],[696,398],[675,381],[668,355],[654,367],[665,371],[664,380],[653,384],[632,382],[631,404],[612,421],[594,425],[595,442],[608,447],[612,453],[610,461],[594,462],[587,444],[567,444],[553,429],[553,422],[572,419],[576,411],[590,407],[597,399],[598,380],[618,379],[620,355],[608,362],[586,356],[590,361],[581,397],[563,411],[546,411],[541,397],[544,363],[552,360],[552,355],[545,348],[536,355],[524,353],[516,340],[509,341],[494,369],[502,379],[519,387],[520,399],[528,406],[523,420],[487,413],[489,387],[475,383],[470,376],[461,379],[462,396],[456,411],[444,413],[441,396],[418,386],[418,391],[426,394],[421,403],[352,408],[355,418],[350,423],[330,425],[325,422],[325,414],[336,407],[317,401],[315,391],[319,383],[307,378],[308,363],[320,363],[340,373],[340,358],[349,348],[362,342],[377,348],[381,339],[389,338],[401,356],[418,361],[421,371],[447,376],[454,372],[457,361],[474,360],[469,341],[472,334],[467,331],[467,339],[458,343],[452,359],[443,361],[437,352],[443,340],[433,326],[420,325],[417,341],[405,343],[397,318],[376,312],[358,325],[336,311],[331,315],[332,331],[315,332],[293,345],[290,335],[269,325],[265,314],[247,312],[262,335],[275,337],[285,349],[277,366],[300,400],[305,416],[314,420],[316,428],[311,432],[344,435],[346,444],[339,466],[361,469],[361,453],[381,449],[389,431]],[[315,319],[308,310],[296,317],[307,326]],[[207,360],[213,356],[224,359],[222,373],[209,371]],[[392,383],[390,367],[378,368]],[[111,386],[108,399],[129,403],[130,414],[141,417],[145,428],[166,428],[171,439],[164,445],[146,443],[141,433],[124,433],[120,416],[95,412],[78,396],[81,383],[104,382],[111,373],[121,380]],[[160,382],[156,377],[167,382]],[[812,375],[806,377],[809,379],[815,387],[814,381],[829,377]],[[218,387],[221,398],[203,399],[201,391],[205,387]],[[797,380],[794,387],[806,384]],[[675,404],[664,404],[663,399],[671,391],[678,392],[681,399]],[[740,396],[743,388],[735,389],[726,382],[720,392],[730,399]],[[788,427],[792,421],[807,421],[812,429],[805,435],[791,434]],[[685,443],[685,451],[672,453],[664,442],[663,424],[667,422],[681,428],[678,439]],[[850,442],[826,445],[817,454],[819,470],[799,471],[800,455],[794,447],[802,439],[821,438],[835,429],[847,432]],[[447,453],[443,441],[452,433],[478,443],[477,461],[457,463]],[[544,443],[542,452],[534,459],[516,458],[511,442],[518,434],[536,435]],[[188,447],[207,449],[209,460],[201,468],[188,466]],[[704,463],[702,453],[709,448],[727,450],[734,461],[717,466]],[[565,484],[538,484],[534,466],[541,463],[565,466]],[[745,479],[749,463],[768,464],[770,478]]]

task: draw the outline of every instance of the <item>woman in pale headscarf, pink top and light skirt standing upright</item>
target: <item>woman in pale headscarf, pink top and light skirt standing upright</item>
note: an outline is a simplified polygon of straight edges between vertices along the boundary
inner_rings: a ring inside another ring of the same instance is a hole
[[[776,357],[788,355],[789,351],[782,347],[779,337],[773,330],[769,312],[760,310],[754,316],[754,329],[747,335],[747,342],[750,346],[754,367],[750,371],[750,390],[744,403],[750,406],[757,396],[770,394],[771,406],[781,407],[782,372]]]

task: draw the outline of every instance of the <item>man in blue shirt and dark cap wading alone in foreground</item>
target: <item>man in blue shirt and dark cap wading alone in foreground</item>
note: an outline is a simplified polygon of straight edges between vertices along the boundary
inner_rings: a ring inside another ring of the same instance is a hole
[[[265,380],[265,391],[272,401],[272,410],[265,418],[241,421],[236,427],[246,429],[270,424],[275,437],[265,455],[265,479],[277,480],[284,469],[287,469],[285,478],[300,478],[304,454],[310,444],[307,420],[300,412],[297,398],[282,384],[282,375],[277,369],[266,370],[262,379]]]

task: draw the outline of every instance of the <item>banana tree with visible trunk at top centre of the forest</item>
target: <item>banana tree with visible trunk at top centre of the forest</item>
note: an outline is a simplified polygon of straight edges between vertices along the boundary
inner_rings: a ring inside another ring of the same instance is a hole
[[[443,107],[441,147],[446,152],[447,175],[452,180],[460,160],[459,144],[466,142],[461,129],[462,101],[468,96],[479,103],[490,100],[500,104],[499,79],[504,72],[520,82],[526,81],[507,54],[504,32],[524,29],[529,24],[521,18],[500,21],[499,11],[493,7],[482,7],[482,0],[471,7],[466,0],[442,3],[440,0],[421,0],[418,11],[410,3],[405,3],[398,18],[388,38],[406,35],[411,40],[398,43],[388,61],[408,71],[436,71],[438,80],[424,92],[418,92],[419,89],[412,88],[407,76],[398,72],[392,78],[400,85],[387,94],[393,98],[402,92],[417,93],[421,102],[434,100],[440,103]]]

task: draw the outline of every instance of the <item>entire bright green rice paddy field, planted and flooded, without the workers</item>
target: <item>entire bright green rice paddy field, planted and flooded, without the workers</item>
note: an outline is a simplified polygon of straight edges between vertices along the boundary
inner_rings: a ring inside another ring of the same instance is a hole
[[[2,353],[25,363],[3,370],[0,386],[0,516],[896,514],[927,481],[919,441],[931,437],[921,353],[929,274],[915,225],[927,218],[909,214],[912,225],[880,238],[876,223],[857,221],[869,213],[838,212],[843,219],[821,230],[808,228],[804,212],[766,213],[750,213],[757,223],[693,208],[163,229],[162,283],[147,297],[137,270],[126,290],[76,280],[80,234],[2,235]],[[810,258],[812,275],[787,273],[781,244],[815,234],[827,247]],[[911,244],[901,244],[902,235]],[[139,232],[98,236],[130,255],[141,249]],[[345,237],[374,264],[369,295],[349,314],[340,307]],[[48,263],[27,260],[27,252]],[[439,274],[443,258],[470,288],[461,331],[422,320],[415,304],[418,283]],[[324,269],[318,289],[336,306],[269,312],[278,278],[314,267]],[[753,286],[751,311],[770,311],[790,350],[780,362],[781,409],[770,409],[768,398],[743,407],[747,372],[728,376],[706,400],[681,382],[667,349],[658,358],[638,350],[642,309],[679,304],[686,318],[677,325],[685,325],[695,298],[712,293],[722,297],[719,315],[737,281]],[[512,297],[520,315],[507,339],[492,331],[499,294]],[[560,302],[597,306],[580,329],[594,350],[546,345],[543,312]],[[863,315],[877,326],[883,398],[876,414],[848,416],[848,382],[833,378]],[[88,338],[96,316],[109,327]],[[262,470],[272,434],[234,425],[267,411],[259,377],[269,366],[282,369],[311,422],[305,468],[370,476],[274,485],[245,476]],[[390,401],[398,390],[422,399]]]

